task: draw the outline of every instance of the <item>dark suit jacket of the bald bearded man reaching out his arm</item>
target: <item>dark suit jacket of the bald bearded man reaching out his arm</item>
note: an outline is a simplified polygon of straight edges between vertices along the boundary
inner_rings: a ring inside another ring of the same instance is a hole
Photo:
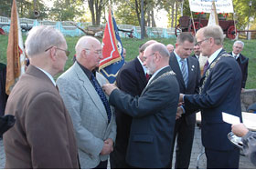
[[[169,164],[176,121],[179,89],[175,75],[165,67],[144,88],[132,96],[115,89],[110,103],[133,116],[126,161],[142,168],[161,168]]]

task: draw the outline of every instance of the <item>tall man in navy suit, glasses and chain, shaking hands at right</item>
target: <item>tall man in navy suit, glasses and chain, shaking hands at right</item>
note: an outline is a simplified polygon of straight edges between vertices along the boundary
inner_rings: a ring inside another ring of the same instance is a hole
[[[222,112],[241,119],[240,66],[222,49],[224,37],[219,25],[199,29],[196,38],[202,55],[208,56],[208,67],[202,76],[199,94],[181,94],[179,101],[185,102],[190,110],[201,109],[207,168],[236,169],[240,150],[229,142],[231,125],[223,122]]]

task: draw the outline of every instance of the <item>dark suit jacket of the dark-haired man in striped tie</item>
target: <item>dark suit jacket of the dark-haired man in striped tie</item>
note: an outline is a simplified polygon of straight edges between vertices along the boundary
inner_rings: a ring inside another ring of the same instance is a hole
[[[188,65],[188,82],[187,87],[185,85],[183,75],[181,73],[180,67],[178,65],[178,61],[176,60],[175,53],[171,53],[170,55],[170,66],[172,70],[176,73],[176,79],[179,85],[179,91],[182,94],[198,94],[199,92],[199,85],[200,85],[200,66],[197,58],[189,56],[187,57],[187,65]],[[183,105],[186,112],[189,111],[189,108],[186,105]],[[193,113],[193,112],[192,112]],[[185,116],[185,115],[182,115]],[[196,123],[196,115],[187,115],[186,116],[186,123],[187,125],[195,124]]]

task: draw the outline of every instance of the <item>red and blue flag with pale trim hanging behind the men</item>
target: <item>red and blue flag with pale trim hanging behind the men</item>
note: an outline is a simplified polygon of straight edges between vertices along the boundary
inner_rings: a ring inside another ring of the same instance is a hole
[[[124,59],[123,45],[112,16],[111,8],[102,39],[102,55],[103,58],[100,61],[99,71],[110,83],[114,83],[118,71],[124,64]]]

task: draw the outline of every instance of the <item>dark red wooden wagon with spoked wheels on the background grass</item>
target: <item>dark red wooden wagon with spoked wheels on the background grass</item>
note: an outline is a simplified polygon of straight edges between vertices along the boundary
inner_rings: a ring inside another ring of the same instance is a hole
[[[196,30],[194,30],[194,25]],[[189,16],[181,16],[179,18],[179,25],[176,25],[175,35],[177,36],[181,32],[191,32],[192,35],[195,35],[198,29],[208,25],[208,19],[194,19],[194,25]],[[237,30],[234,25],[234,20],[219,20],[219,26],[229,39],[235,39]]]

